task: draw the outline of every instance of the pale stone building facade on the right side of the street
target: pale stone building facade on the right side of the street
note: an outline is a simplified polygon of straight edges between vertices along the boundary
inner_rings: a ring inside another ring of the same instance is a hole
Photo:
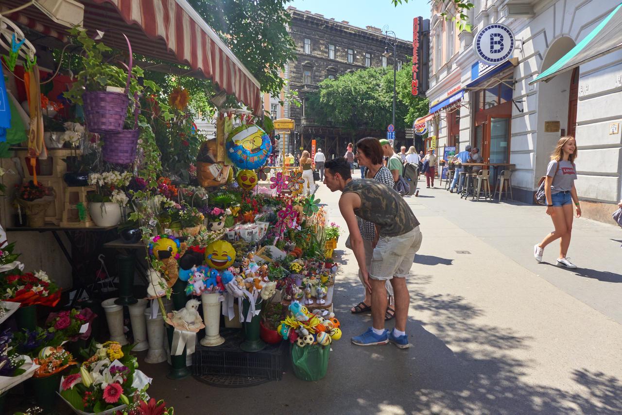
[[[456,33],[432,9],[430,114],[437,149],[480,147],[486,162],[513,164],[514,199],[533,203],[539,178],[561,136],[577,139],[585,217],[610,220],[622,197],[622,51],[536,82],[539,73],[583,40],[618,0],[475,0],[473,29]],[[478,61],[473,39],[488,24],[514,34],[513,56],[494,67]]]

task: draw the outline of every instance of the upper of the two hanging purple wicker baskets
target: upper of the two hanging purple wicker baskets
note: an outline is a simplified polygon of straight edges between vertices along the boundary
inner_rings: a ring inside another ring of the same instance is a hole
[[[128,116],[129,98],[126,93],[119,92],[85,92],[84,117],[86,127],[91,133],[119,133],[123,131],[123,123]]]

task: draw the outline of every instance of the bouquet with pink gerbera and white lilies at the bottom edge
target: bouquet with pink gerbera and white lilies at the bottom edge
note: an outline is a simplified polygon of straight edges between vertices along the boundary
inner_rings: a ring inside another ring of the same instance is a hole
[[[129,353],[131,347],[121,347],[117,342],[91,345],[95,353],[80,370],[63,378],[60,396],[78,411],[101,413],[123,409],[129,404],[128,396],[142,390],[150,381],[136,369],[136,358]]]

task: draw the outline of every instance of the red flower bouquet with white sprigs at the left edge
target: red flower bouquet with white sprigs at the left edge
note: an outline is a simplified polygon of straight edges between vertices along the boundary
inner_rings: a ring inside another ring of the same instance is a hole
[[[54,307],[60,300],[60,289],[44,271],[15,273],[0,279],[0,292],[5,301],[24,305],[49,305]]]

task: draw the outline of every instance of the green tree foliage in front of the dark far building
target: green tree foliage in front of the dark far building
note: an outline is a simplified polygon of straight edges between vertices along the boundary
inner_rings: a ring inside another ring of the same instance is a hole
[[[412,128],[412,121],[427,114],[428,101],[412,96],[412,66],[396,74],[396,131]],[[392,121],[393,70],[366,68],[319,84],[307,95],[306,110],[315,123],[335,126],[350,133],[357,130],[384,131]]]

